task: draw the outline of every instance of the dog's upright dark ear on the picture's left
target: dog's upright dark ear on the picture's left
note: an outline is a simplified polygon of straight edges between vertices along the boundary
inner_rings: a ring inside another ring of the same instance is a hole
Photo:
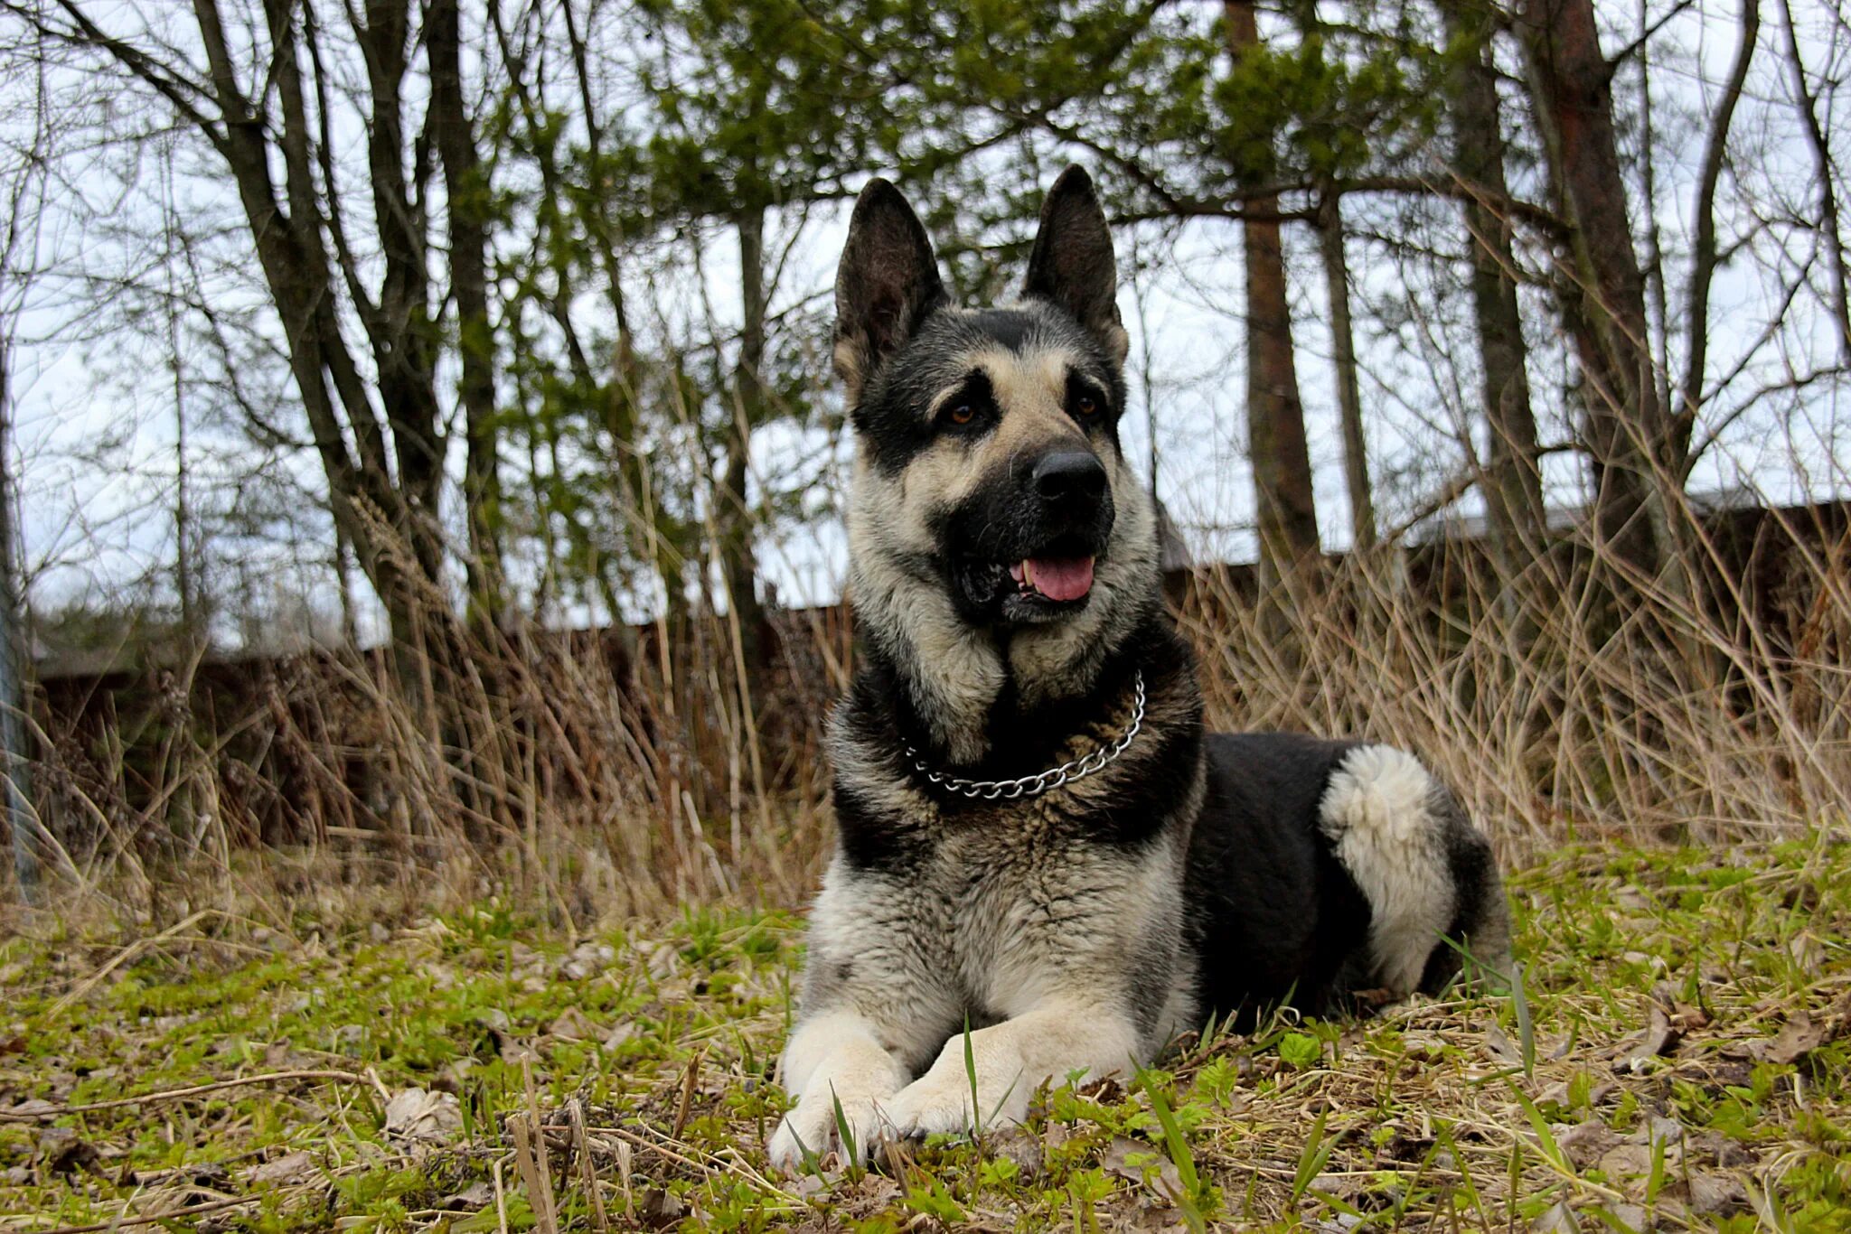
[[[946,302],[918,215],[885,179],[870,179],[848,220],[835,272],[835,370],[848,401],[868,376]]]

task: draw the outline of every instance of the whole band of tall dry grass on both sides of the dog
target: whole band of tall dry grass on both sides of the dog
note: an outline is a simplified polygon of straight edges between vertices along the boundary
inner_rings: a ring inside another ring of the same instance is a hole
[[[1264,596],[1203,568],[1179,622],[1212,723],[1418,749],[1512,855],[1610,833],[1845,833],[1844,518],[1749,522],[1697,531],[1696,586],[1625,577],[1577,542],[1518,577],[1483,546],[1425,546]],[[759,673],[711,616],[626,638],[459,633],[411,690],[404,657],[394,672],[348,649],[194,659],[150,673],[152,694],[41,707],[37,903],[281,925],[342,899],[415,912],[505,894],[561,921],[798,903],[827,844],[820,731],[851,642],[839,611],[779,614],[776,633]]]

